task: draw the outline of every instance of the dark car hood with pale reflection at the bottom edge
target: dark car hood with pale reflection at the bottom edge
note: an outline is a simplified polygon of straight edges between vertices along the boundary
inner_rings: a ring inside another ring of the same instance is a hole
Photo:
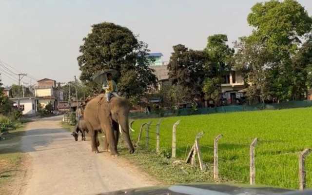
[[[310,192],[269,187],[243,187],[224,184],[172,185],[168,187],[120,190],[101,195],[312,195]]]

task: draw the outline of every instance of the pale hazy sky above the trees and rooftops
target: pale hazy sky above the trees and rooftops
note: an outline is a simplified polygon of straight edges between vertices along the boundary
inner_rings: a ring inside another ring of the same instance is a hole
[[[79,77],[79,46],[91,25],[114,22],[132,30],[168,61],[172,46],[203,49],[207,37],[227,34],[229,45],[247,36],[250,8],[263,0],[0,0],[0,79],[17,83]],[[298,0],[312,15],[312,0]]]

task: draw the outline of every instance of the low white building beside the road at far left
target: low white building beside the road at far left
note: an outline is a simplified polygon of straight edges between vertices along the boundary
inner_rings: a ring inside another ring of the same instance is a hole
[[[14,102],[13,106],[18,106],[19,98],[10,98]],[[20,110],[23,115],[32,115],[37,113],[37,105],[39,103],[39,98],[20,98]]]

